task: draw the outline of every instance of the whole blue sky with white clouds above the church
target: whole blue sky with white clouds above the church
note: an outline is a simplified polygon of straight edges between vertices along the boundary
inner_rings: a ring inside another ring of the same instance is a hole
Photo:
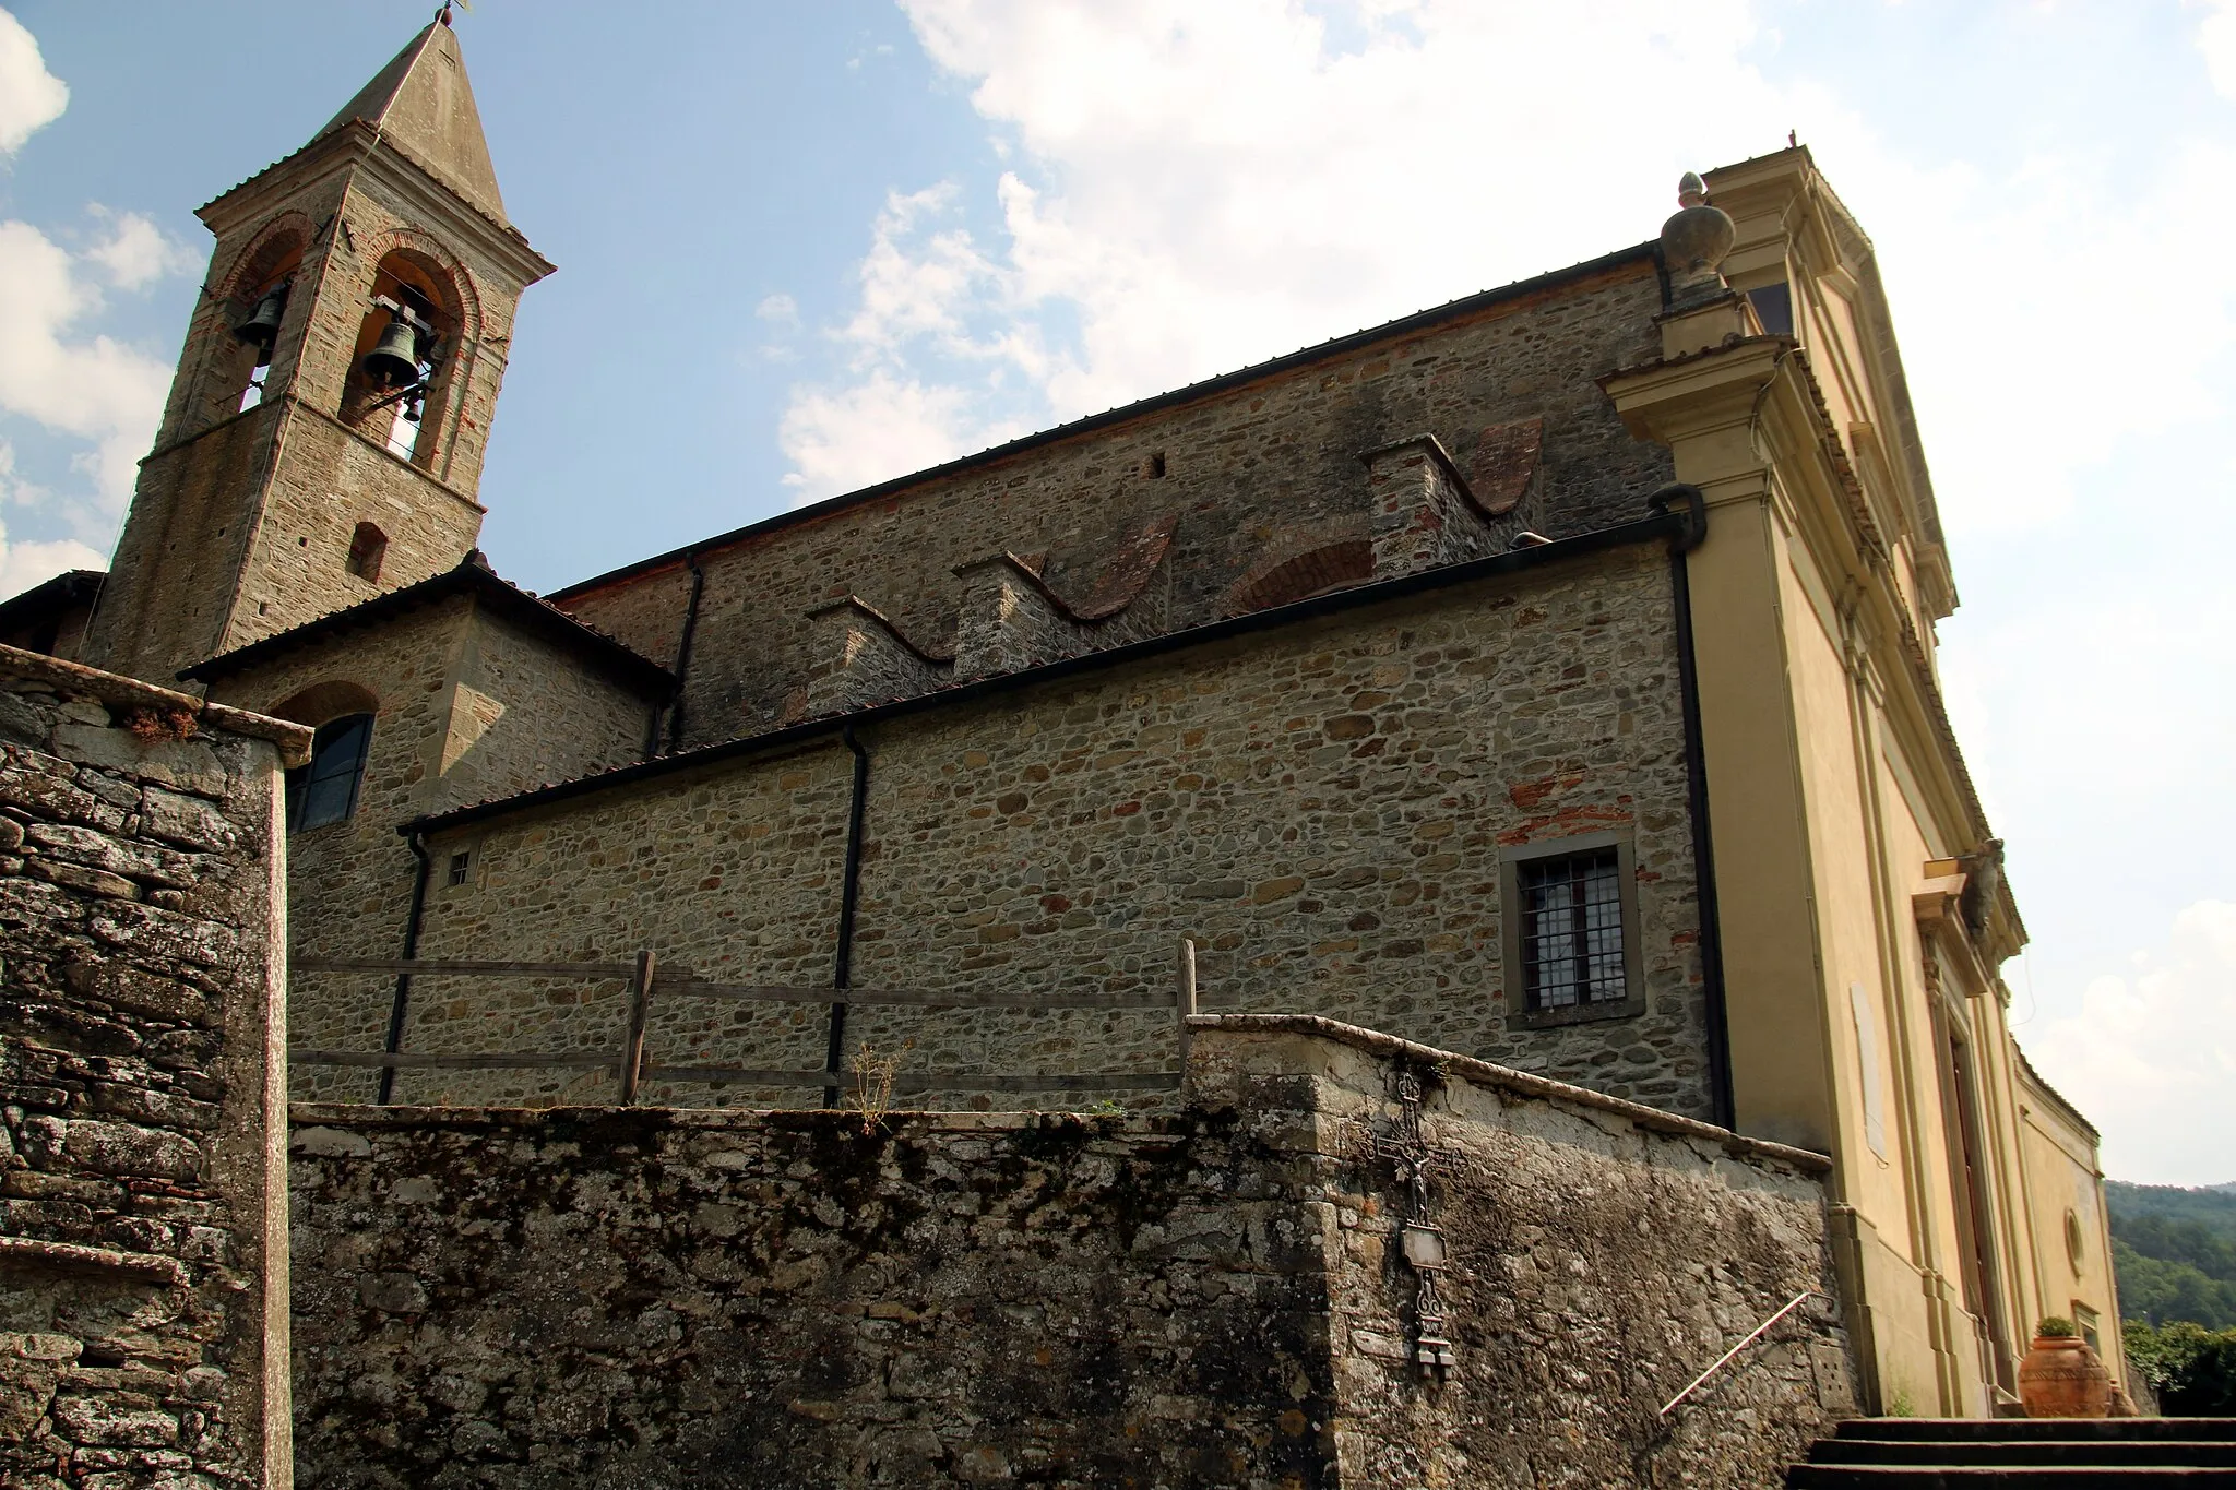
[[[16,0],[0,590],[114,541],[192,208],[429,11]],[[2111,1173],[2236,1177],[2229,0],[479,0],[458,29],[559,264],[483,480],[485,547],[539,590],[1635,243],[1681,170],[1796,130],[1903,337],[1948,693],[2035,934],[2019,1037]]]

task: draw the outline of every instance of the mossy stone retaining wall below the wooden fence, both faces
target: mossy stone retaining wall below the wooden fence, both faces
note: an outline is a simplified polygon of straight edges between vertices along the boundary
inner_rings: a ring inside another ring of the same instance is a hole
[[[1449,1378],[1362,1135],[1436,1052],[1203,1019],[1160,1117],[295,1110],[297,1472],[353,1488],[1749,1490],[1847,1403],[1813,1155],[1444,1059]],[[1581,1401],[1579,1401],[1581,1398]]]

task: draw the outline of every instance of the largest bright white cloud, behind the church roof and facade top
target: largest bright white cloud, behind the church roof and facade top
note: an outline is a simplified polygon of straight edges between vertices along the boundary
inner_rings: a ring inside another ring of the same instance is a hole
[[[1641,241],[1681,170],[1789,123],[1887,259],[1952,532],[2066,514],[2075,471],[2205,416],[2236,344],[2236,279],[2194,270],[2236,228],[2236,150],[1916,163],[1816,83],[1766,78],[1746,0],[906,9],[1015,170],[991,203],[894,192],[843,335],[856,393],[948,389],[959,449]],[[950,221],[973,210],[999,235]],[[2117,315],[2073,313],[2111,293]],[[1981,378],[1983,357],[2062,371]]]

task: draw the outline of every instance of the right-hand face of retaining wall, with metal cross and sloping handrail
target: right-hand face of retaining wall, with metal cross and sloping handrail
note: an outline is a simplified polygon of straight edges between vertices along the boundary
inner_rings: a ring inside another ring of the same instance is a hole
[[[1333,1441],[1353,1486],[1778,1486],[1856,1412],[1818,1175],[1825,1159],[1288,1016],[1198,1034],[1194,1110],[1292,1092],[1315,1072],[1330,1195]],[[1413,1363],[1406,1191],[1375,1139],[1398,1133],[1395,1072],[1427,1088],[1429,1215],[1451,1255],[1456,1367]],[[1301,1106],[1301,1104],[1299,1104]],[[1697,1372],[1796,1293],[1813,1298],[1668,1421]]]

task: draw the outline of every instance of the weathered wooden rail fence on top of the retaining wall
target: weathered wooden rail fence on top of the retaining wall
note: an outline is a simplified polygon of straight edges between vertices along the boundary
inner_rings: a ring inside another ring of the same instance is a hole
[[[474,958],[331,958],[297,956],[295,972],[338,974],[407,974],[452,978],[579,978],[604,983],[628,981],[628,1025],[615,1054],[590,1052],[470,1052],[429,1054],[405,1050],[288,1050],[297,1066],[358,1066],[373,1070],[613,1070],[619,1077],[622,1104],[635,1104],[644,1081],[691,1081],[722,1086],[807,1086],[836,1092],[847,1086],[836,1070],[765,1070],[751,1066],[660,1066],[644,1057],[644,1030],[651,1019],[660,958],[651,947],[633,963],[503,963]],[[1196,945],[1181,938],[1174,990],[1167,994],[1017,994],[1017,992],[939,992],[897,987],[798,987],[762,983],[707,983],[691,976],[657,983],[662,999],[724,999],[745,1003],[843,1003],[944,1010],[1174,1010],[1178,1025],[1181,1068],[1147,1072],[910,1072],[897,1074],[897,1092],[1122,1092],[1178,1090],[1187,1070],[1187,1016],[1196,1012]]]

